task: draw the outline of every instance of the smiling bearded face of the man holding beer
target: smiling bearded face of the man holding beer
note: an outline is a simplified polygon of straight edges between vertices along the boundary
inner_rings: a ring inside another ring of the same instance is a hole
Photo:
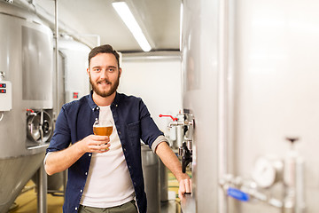
[[[121,68],[111,53],[99,53],[90,59],[89,83],[97,95],[106,98],[112,95],[120,83]]]

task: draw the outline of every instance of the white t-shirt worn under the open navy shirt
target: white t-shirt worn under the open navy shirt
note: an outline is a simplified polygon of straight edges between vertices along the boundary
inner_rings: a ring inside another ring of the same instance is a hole
[[[114,123],[110,106],[99,107],[99,119],[108,119]],[[92,154],[80,202],[83,206],[109,208],[134,199],[134,187],[115,125],[109,143],[111,146],[108,152]]]

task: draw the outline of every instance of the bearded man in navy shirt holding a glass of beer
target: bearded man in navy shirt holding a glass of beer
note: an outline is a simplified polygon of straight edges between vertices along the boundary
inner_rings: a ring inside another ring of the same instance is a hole
[[[119,54],[110,45],[89,52],[92,91],[62,106],[45,159],[49,175],[68,169],[64,212],[146,212],[140,139],[173,172],[179,196],[191,193],[191,179],[142,99],[118,93]],[[110,137],[93,135],[96,119],[110,119]]]

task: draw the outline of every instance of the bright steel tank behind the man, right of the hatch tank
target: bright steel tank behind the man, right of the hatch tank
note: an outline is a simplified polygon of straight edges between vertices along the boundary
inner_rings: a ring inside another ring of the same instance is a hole
[[[74,41],[70,36],[58,37],[58,76],[54,77],[57,81],[53,82],[54,121],[64,104],[89,94],[89,79],[86,73],[86,68],[89,67],[89,51],[87,45]],[[66,171],[48,176],[48,193],[64,193],[64,188],[61,191],[62,185],[66,186]]]

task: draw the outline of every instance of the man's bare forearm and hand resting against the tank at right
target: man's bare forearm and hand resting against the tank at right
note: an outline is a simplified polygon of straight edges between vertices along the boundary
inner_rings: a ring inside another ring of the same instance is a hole
[[[175,175],[179,183],[178,196],[183,199],[184,193],[191,193],[191,178],[183,173],[181,162],[166,142],[159,143],[155,153],[159,155],[167,169]]]

